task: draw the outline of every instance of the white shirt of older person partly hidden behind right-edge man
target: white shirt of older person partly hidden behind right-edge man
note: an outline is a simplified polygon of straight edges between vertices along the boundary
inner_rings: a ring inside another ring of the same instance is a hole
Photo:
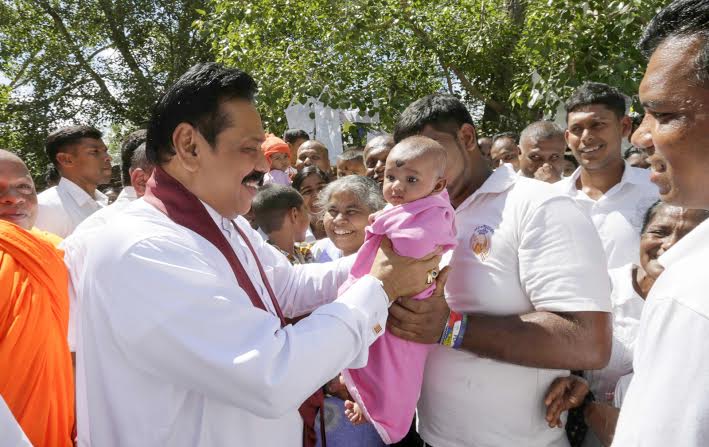
[[[613,305],[613,350],[608,366],[586,371],[585,378],[598,402],[613,402],[618,379],[633,371],[633,348],[638,335],[640,315],[645,300],[635,291],[632,282],[633,264],[609,272]]]

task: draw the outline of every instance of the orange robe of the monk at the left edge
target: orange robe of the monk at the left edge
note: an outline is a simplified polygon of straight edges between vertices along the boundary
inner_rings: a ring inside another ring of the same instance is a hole
[[[0,220],[0,395],[37,447],[72,445],[74,380],[62,252]]]

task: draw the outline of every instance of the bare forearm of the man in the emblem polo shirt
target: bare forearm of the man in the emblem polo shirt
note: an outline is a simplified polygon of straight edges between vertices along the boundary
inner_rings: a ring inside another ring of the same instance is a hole
[[[522,366],[599,369],[610,357],[609,315],[603,312],[469,314],[462,347],[481,357]]]

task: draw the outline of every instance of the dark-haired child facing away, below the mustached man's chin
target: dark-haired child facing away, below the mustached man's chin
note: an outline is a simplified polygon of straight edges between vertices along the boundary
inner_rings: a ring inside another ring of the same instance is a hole
[[[305,240],[310,215],[303,197],[290,186],[265,185],[251,202],[255,223],[268,236],[267,242],[280,251],[291,264],[313,262]]]

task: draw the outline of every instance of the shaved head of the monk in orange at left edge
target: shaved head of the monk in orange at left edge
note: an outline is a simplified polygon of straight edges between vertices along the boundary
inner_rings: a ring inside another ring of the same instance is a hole
[[[37,220],[37,191],[20,157],[0,149],[0,220],[30,230]]]

